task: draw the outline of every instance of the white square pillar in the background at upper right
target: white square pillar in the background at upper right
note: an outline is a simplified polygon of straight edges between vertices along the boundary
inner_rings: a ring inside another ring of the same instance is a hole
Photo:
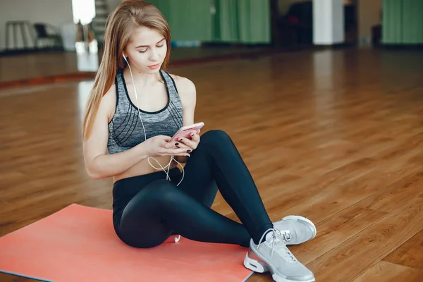
[[[344,1],[313,0],[313,42],[316,45],[343,43]]]

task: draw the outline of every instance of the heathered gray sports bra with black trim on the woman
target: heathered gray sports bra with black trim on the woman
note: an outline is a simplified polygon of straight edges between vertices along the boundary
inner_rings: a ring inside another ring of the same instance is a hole
[[[182,103],[175,81],[165,71],[160,71],[160,73],[166,85],[168,103],[159,111],[148,112],[140,109],[147,139],[156,135],[173,136],[183,125]],[[115,85],[116,112],[109,123],[109,140],[107,142],[109,154],[123,152],[145,140],[138,110],[130,100],[123,71],[118,71],[116,74]]]

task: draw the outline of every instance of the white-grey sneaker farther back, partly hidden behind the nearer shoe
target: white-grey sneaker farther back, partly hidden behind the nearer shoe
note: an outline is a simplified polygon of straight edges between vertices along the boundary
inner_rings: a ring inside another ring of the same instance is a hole
[[[281,231],[283,243],[286,245],[305,243],[317,234],[314,223],[303,216],[285,216],[274,223],[274,228]]]

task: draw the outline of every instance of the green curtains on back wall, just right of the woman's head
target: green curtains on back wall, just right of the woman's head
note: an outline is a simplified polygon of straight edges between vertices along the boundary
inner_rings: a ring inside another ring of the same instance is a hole
[[[270,0],[149,0],[164,14],[174,41],[271,42]],[[212,7],[216,13],[211,13]]]

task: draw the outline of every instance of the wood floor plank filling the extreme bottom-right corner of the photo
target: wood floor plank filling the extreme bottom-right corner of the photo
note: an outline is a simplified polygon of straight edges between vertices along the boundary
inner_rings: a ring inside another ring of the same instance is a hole
[[[391,264],[390,262],[378,262],[368,269],[364,274],[355,278],[353,282],[421,282],[423,271],[410,267]]]

